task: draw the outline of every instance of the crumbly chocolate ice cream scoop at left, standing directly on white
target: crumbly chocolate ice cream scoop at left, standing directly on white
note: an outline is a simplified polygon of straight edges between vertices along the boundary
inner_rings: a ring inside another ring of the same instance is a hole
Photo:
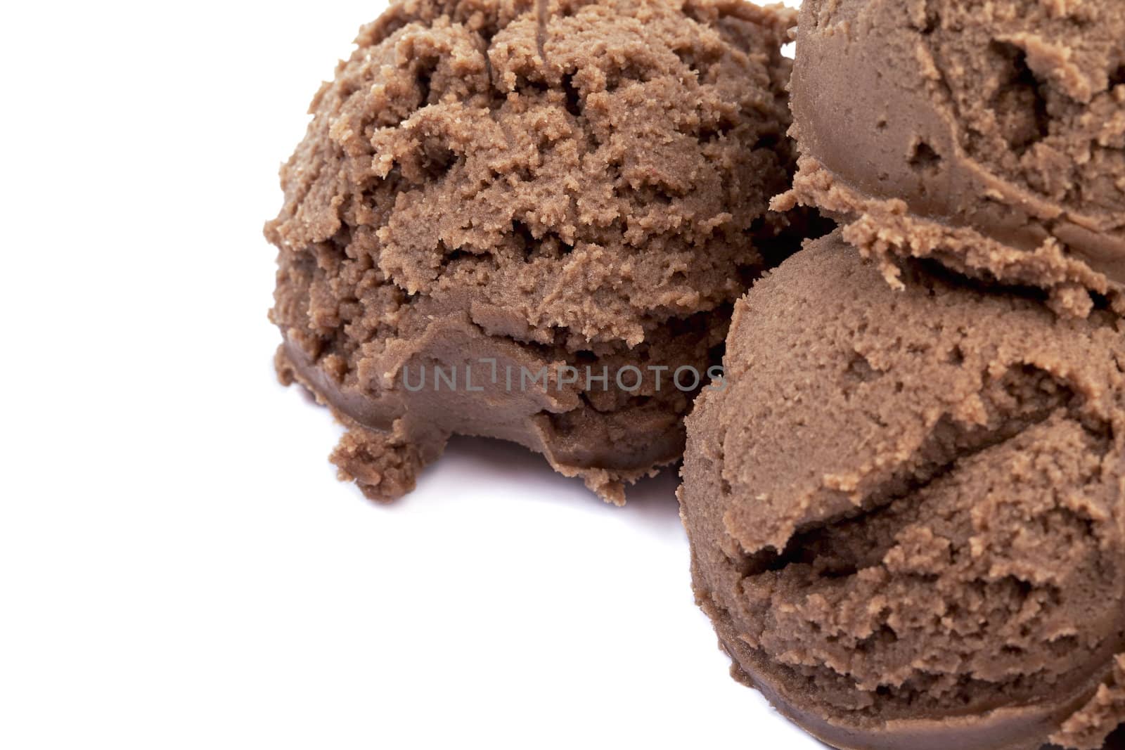
[[[794,21],[402,0],[362,30],[266,231],[277,368],[348,427],[342,478],[390,499],[450,435],[484,435],[620,503],[680,458],[693,389],[670,377],[718,363],[730,306],[796,231],[767,215],[794,169]]]

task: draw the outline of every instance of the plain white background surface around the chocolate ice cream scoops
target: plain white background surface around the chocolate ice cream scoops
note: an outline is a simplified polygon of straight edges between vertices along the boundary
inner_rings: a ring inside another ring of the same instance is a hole
[[[462,440],[380,507],[277,385],[277,170],[382,4],[2,11],[0,748],[820,747],[728,677],[673,476]]]

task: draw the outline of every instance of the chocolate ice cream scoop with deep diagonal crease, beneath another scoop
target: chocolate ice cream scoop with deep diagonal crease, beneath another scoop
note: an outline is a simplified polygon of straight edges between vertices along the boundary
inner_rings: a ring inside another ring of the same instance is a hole
[[[738,302],[687,419],[696,598],[838,748],[1098,748],[1125,721],[1125,324],[953,279],[896,291],[836,233]]]

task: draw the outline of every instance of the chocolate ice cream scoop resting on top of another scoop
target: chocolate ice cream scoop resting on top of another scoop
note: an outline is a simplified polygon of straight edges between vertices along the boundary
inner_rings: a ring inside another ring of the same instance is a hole
[[[839,215],[892,283],[933,257],[1125,310],[1123,38],[1120,0],[807,0],[775,207]]]

